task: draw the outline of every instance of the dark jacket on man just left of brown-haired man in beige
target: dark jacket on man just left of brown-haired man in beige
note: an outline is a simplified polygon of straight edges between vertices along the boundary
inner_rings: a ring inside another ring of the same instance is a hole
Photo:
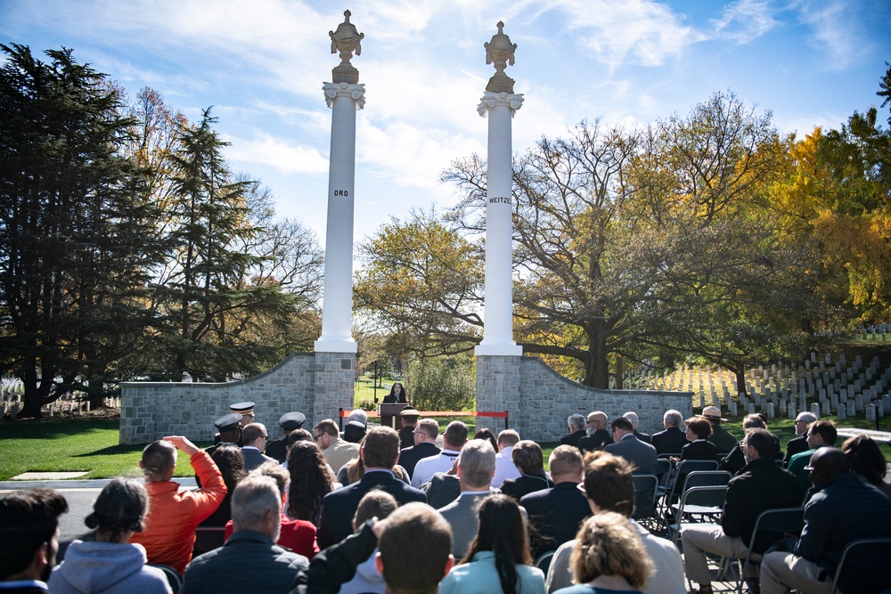
[[[520,498],[529,522],[535,526],[532,535],[532,557],[557,549],[576,538],[579,525],[591,516],[591,508],[576,483],[558,483],[552,489],[531,492]]]

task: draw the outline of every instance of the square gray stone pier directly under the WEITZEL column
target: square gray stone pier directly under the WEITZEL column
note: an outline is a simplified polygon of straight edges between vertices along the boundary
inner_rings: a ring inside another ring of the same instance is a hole
[[[477,410],[508,411],[509,427],[518,431],[521,429],[519,404],[521,359],[519,354],[477,354]],[[495,419],[486,420],[495,422]],[[489,428],[497,434],[503,429],[503,425],[498,424]]]

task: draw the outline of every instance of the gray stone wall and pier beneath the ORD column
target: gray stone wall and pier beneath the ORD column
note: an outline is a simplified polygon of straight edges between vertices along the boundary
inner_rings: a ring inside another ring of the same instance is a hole
[[[208,441],[214,421],[229,405],[253,401],[255,419],[269,435],[280,435],[278,419],[301,411],[307,425],[353,406],[356,355],[294,353],[252,378],[222,384],[127,382],[121,384],[119,443],[150,443],[164,435]]]

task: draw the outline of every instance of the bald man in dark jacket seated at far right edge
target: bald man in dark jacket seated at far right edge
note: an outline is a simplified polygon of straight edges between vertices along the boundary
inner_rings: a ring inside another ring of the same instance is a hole
[[[848,468],[845,453],[824,447],[811,456],[807,467],[819,489],[805,505],[805,528],[791,552],[764,556],[761,564],[763,594],[829,592],[841,552],[854,540],[891,534],[891,500],[865,484]],[[846,557],[838,590],[879,592],[891,587],[886,551],[862,547]]]

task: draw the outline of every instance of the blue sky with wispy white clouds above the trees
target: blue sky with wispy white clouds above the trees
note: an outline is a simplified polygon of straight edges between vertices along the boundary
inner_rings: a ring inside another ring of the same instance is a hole
[[[771,110],[786,132],[838,127],[877,103],[891,61],[887,0],[0,0],[0,42],[72,48],[131,96],[151,86],[193,121],[213,105],[233,169],[323,241],[322,84],[339,63],[328,31],[347,9],[365,35],[353,59],[366,99],[357,240],[411,207],[450,207],[440,172],[485,156],[476,106],[498,20],[519,45],[507,71],[525,95],[517,152],[583,118],[634,126],[726,90]]]

